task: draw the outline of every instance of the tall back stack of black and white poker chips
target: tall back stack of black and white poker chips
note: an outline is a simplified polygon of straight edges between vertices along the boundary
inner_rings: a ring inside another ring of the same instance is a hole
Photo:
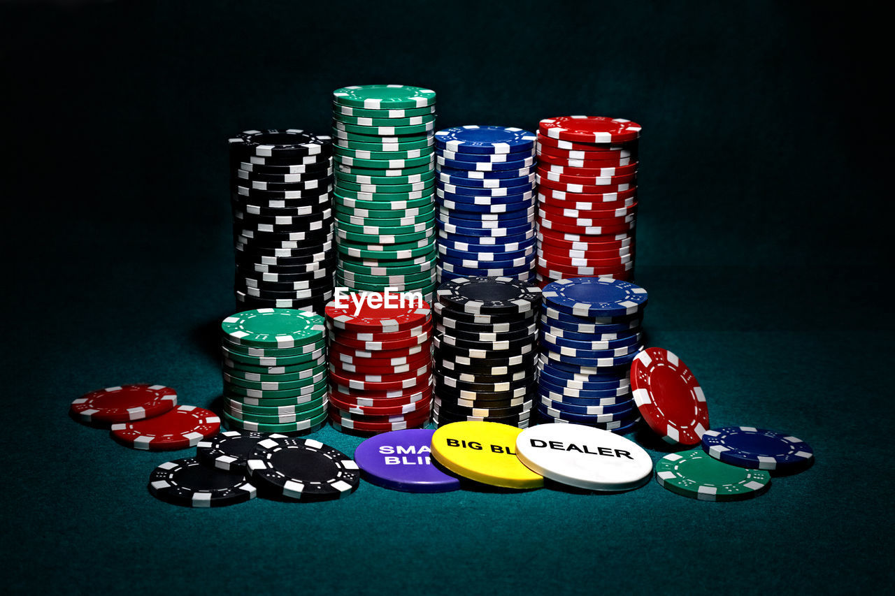
[[[230,139],[237,308],[322,312],[332,297],[332,146],[295,129]]]

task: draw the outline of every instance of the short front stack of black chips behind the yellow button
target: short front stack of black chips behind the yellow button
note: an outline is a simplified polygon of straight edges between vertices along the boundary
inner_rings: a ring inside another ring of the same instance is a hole
[[[435,421],[531,421],[541,289],[512,277],[454,277],[435,307]]]

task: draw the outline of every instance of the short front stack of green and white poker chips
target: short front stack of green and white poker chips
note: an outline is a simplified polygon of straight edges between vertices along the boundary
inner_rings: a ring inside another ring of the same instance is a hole
[[[326,323],[293,309],[258,309],[221,323],[224,420],[231,429],[305,432],[326,423]]]

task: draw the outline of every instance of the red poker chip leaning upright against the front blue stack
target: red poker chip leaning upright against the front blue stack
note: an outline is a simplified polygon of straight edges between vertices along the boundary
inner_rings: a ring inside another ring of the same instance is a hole
[[[709,408],[693,371],[674,353],[651,347],[631,362],[634,403],[650,428],[672,445],[697,445]]]

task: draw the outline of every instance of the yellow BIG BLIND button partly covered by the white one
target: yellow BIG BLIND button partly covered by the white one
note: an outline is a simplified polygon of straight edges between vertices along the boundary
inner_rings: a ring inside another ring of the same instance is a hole
[[[487,421],[457,421],[432,434],[432,457],[448,472],[507,489],[537,489],[543,476],[516,457],[522,430]]]

